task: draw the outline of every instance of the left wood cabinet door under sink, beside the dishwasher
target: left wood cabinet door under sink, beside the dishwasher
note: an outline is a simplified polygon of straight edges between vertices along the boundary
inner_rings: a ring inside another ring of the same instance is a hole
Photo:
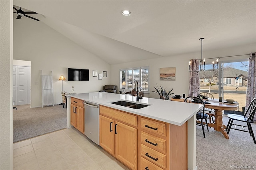
[[[100,146],[114,155],[114,120],[100,115]]]

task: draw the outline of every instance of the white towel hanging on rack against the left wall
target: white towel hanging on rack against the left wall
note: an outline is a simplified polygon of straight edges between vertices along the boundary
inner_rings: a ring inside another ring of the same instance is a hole
[[[52,75],[42,75],[42,107],[53,105],[53,82]]]

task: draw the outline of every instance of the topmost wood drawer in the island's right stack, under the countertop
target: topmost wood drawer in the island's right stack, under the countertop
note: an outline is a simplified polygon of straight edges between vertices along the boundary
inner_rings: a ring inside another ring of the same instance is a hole
[[[166,136],[166,123],[141,118],[141,128],[161,136]]]

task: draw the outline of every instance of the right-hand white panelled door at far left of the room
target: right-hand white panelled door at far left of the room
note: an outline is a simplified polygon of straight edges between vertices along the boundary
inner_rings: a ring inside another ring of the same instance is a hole
[[[26,105],[28,101],[27,67],[17,66],[17,105]]]

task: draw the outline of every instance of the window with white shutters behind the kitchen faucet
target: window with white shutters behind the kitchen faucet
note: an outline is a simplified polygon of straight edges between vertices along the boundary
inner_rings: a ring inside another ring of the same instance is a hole
[[[132,90],[135,87],[135,82],[138,81],[139,86],[148,92],[148,67],[138,67],[130,69],[120,69],[120,89]],[[125,81],[126,85],[122,86]]]

